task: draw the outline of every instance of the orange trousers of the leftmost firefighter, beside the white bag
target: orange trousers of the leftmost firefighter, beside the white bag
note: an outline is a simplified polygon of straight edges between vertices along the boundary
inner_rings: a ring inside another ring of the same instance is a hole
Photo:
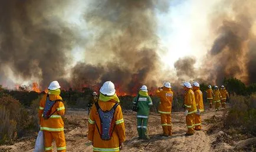
[[[52,139],[54,139],[56,142],[58,152],[66,151],[64,131],[60,131],[60,132],[44,131],[45,151],[47,152],[52,151]]]

